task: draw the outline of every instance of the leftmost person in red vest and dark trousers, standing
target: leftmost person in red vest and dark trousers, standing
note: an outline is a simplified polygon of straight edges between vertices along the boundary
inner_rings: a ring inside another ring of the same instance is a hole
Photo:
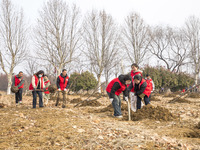
[[[19,88],[19,91],[15,93],[16,105],[22,104],[22,92],[24,87],[24,79],[22,71],[20,71],[18,75],[15,75],[15,77],[13,78],[12,86],[17,86]]]

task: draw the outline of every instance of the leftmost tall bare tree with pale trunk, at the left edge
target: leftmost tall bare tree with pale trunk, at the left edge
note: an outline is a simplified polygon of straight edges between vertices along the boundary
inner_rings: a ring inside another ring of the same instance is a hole
[[[14,68],[26,58],[27,26],[23,11],[18,11],[10,0],[2,0],[0,13],[0,65],[8,77],[10,94]]]

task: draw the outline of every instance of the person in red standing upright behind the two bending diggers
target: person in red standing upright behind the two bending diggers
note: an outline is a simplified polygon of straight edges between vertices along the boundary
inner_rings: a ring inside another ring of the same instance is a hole
[[[136,63],[133,63],[132,65],[131,65],[131,77],[132,77],[132,80],[134,80],[134,76],[135,75],[140,75],[140,76],[142,76],[142,71],[141,70],[139,70],[139,66],[136,64]],[[134,101],[134,88],[131,90],[131,92],[130,92],[130,101],[131,101],[131,103],[133,103],[133,101]]]

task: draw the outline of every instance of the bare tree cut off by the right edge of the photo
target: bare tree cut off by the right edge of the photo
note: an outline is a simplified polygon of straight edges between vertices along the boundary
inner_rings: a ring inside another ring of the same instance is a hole
[[[200,20],[191,16],[186,20],[184,33],[187,36],[190,48],[190,61],[194,66],[195,84],[199,79],[200,69]]]

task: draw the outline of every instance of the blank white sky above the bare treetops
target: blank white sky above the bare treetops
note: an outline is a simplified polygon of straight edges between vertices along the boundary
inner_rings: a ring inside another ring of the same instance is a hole
[[[29,22],[34,23],[38,10],[48,0],[12,0],[24,9]],[[123,23],[131,11],[135,11],[149,25],[171,25],[180,27],[191,15],[200,17],[200,0],[66,0],[77,4],[82,14],[92,9],[105,9],[116,21]]]

